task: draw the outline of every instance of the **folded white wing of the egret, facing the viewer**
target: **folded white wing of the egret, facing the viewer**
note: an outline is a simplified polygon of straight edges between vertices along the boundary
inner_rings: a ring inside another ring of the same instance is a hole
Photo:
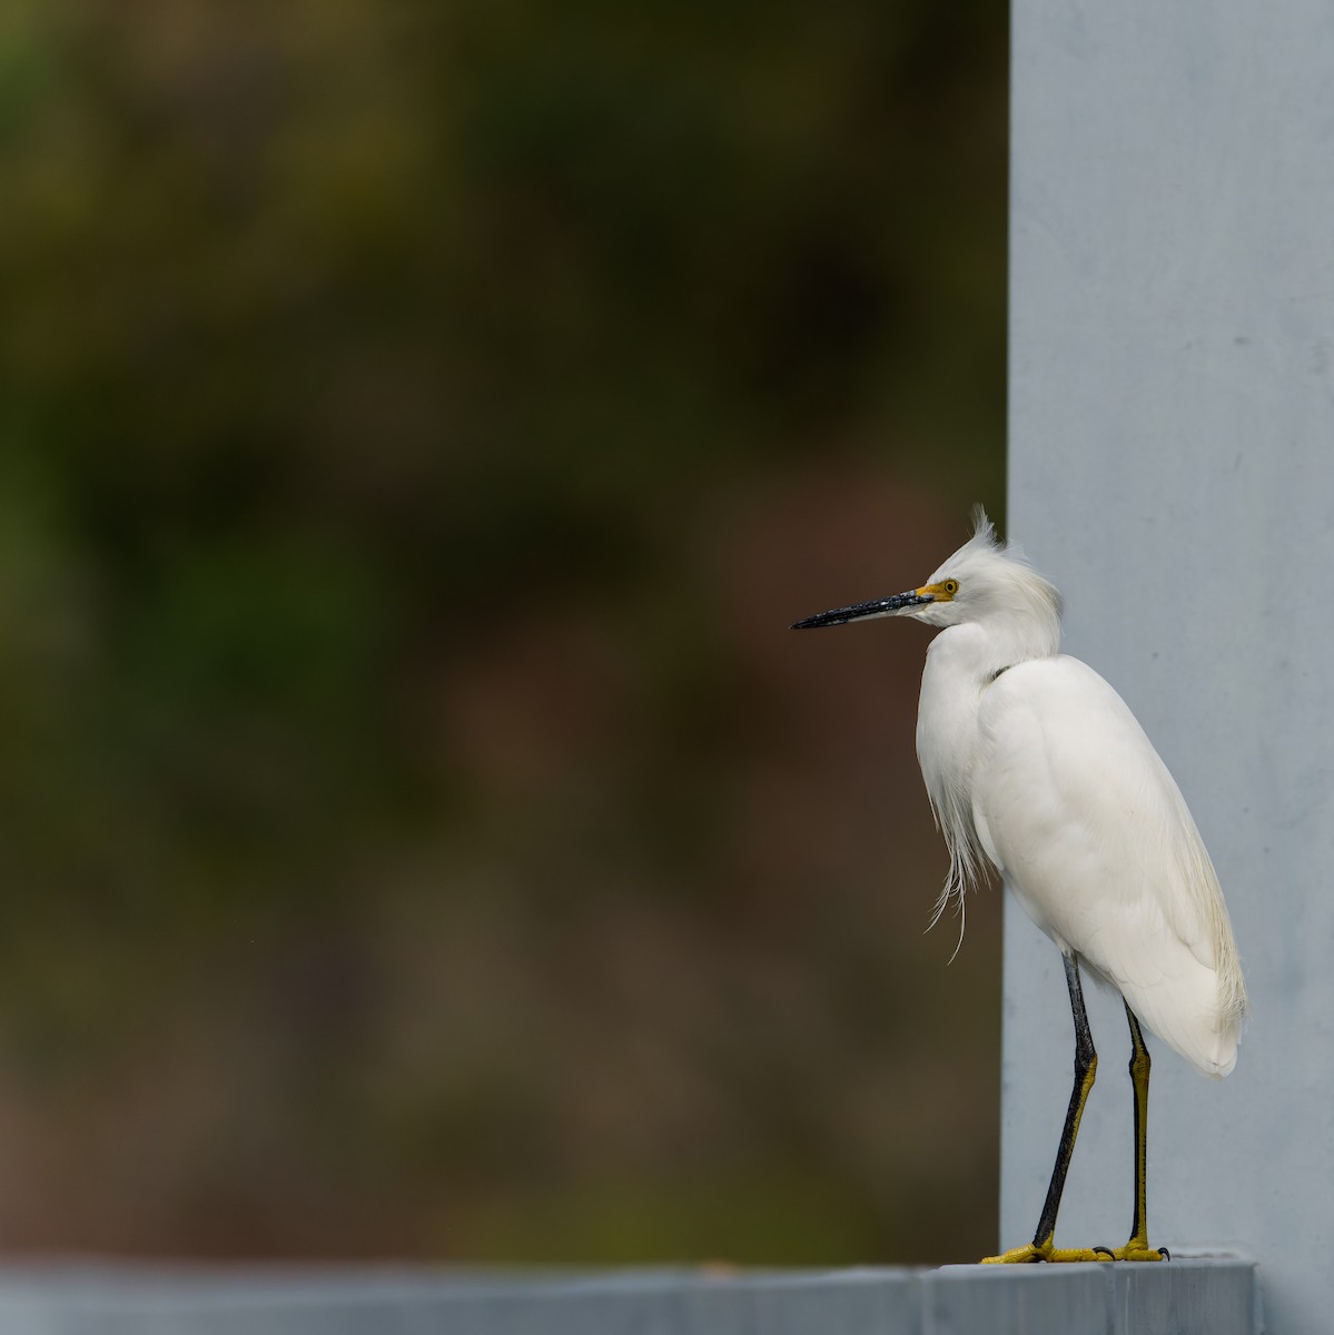
[[[979,830],[1030,917],[1206,1075],[1245,1009],[1218,880],[1175,781],[1091,668],[1019,663],[983,694]]]

